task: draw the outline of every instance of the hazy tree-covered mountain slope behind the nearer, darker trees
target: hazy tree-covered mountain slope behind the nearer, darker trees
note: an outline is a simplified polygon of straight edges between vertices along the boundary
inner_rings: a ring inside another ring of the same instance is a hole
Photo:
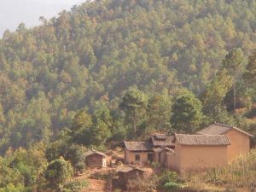
[[[256,2],[102,0],[0,41],[0,148],[48,142],[80,108],[130,86],[200,93],[227,51],[255,48]]]

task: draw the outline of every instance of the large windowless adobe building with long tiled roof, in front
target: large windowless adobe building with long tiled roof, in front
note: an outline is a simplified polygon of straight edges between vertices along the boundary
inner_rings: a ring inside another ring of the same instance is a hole
[[[228,164],[230,140],[225,135],[175,134],[175,149],[167,153],[166,166],[177,172]]]

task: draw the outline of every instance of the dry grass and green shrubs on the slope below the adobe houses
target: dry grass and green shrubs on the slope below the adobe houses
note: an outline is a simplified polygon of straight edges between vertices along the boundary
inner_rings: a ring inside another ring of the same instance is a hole
[[[237,157],[230,165],[211,170],[191,170],[178,175],[154,166],[154,175],[131,184],[129,191],[254,192],[256,150]]]

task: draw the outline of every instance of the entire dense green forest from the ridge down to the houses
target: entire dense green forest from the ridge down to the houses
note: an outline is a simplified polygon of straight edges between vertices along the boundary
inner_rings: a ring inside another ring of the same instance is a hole
[[[254,0],[95,0],[39,20],[0,39],[0,191],[91,146],[256,127]]]

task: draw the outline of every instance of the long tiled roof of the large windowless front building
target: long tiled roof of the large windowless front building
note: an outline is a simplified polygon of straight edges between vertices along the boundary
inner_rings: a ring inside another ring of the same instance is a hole
[[[175,134],[177,143],[180,145],[230,145],[230,140],[224,135],[185,135]]]

